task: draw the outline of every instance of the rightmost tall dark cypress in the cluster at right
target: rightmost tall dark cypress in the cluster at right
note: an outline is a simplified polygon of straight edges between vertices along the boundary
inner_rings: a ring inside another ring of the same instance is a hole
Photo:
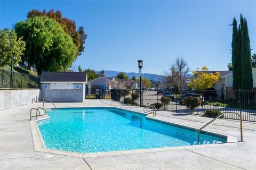
[[[241,27],[241,44],[242,90],[252,90],[253,78],[251,46],[246,19],[244,19],[243,27]]]

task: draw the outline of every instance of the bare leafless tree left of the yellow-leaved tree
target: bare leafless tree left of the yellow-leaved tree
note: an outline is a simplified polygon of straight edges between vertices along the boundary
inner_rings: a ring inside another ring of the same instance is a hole
[[[190,69],[186,60],[178,56],[166,72],[165,84],[169,87],[177,87],[179,90],[182,90],[182,87],[186,83],[185,75],[189,71]]]

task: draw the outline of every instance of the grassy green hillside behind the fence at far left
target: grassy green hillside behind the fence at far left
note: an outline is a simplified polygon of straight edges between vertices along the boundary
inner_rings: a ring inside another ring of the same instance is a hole
[[[10,66],[0,68],[0,88],[10,88],[11,69]],[[14,67],[13,73],[13,89],[32,89],[38,88],[40,78],[35,77],[37,75],[34,71],[23,69],[22,67]]]

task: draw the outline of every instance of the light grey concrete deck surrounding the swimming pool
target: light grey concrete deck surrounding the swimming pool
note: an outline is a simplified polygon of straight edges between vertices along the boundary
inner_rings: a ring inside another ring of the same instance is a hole
[[[57,107],[120,107],[143,112],[143,108],[127,106],[112,100],[89,100],[84,103],[56,103]],[[218,145],[151,149],[145,152],[120,151],[87,157],[35,151],[30,130],[29,111],[42,103],[0,111],[0,169],[255,169],[256,123],[243,122],[243,142]],[[46,103],[51,108],[51,103]],[[156,119],[201,128],[212,118],[157,111]],[[149,117],[153,117],[149,115]],[[40,117],[39,117],[40,118]],[[239,122],[217,120],[205,130],[240,138]],[[37,141],[34,141],[37,142]],[[149,141],[150,142],[150,141]],[[103,152],[102,152],[103,153]]]

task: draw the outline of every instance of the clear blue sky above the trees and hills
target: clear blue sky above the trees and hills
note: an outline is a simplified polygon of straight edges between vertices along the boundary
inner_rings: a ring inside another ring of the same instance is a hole
[[[0,27],[13,28],[28,11],[60,10],[83,25],[83,69],[163,74],[177,56],[191,67],[227,70],[234,17],[248,22],[256,52],[256,1],[0,1]]]

